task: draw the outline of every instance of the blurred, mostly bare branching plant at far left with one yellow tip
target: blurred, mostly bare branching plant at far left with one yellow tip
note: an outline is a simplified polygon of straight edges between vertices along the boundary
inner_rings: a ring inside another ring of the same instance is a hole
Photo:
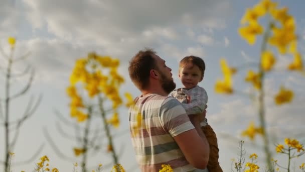
[[[3,145],[5,146],[5,160],[4,160],[4,171],[5,172],[10,172],[10,157],[11,157],[11,152],[14,151],[14,147],[16,145],[18,136],[19,136],[19,132],[20,132],[20,128],[21,126],[24,124],[24,122],[29,119],[36,111],[36,109],[38,108],[40,102],[41,102],[41,96],[36,100],[36,102],[33,101],[33,97],[30,98],[30,100],[28,101],[28,105],[27,108],[25,110],[25,112],[23,113],[23,116],[21,117],[14,117],[12,120],[12,112],[11,112],[11,103],[13,100],[15,100],[16,98],[20,98],[21,96],[25,96],[26,93],[28,93],[29,89],[31,88],[31,84],[33,82],[33,78],[34,78],[34,69],[31,68],[31,66],[28,65],[27,68],[25,68],[25,70],[21,73],[19,72],[14,72],[13,70],[13,65],[15,65],[18,62],[24,62],[25,59],[29,56],[29,53],[26,53],[25,55],[16,58],[14,56],[15,53],[15,47],[16,47],[16,39],[14,37],[10,37],[8,39],[8,43],[10,45],[10,53],[9,55],[6,54],[6,52],[4,52],[2,49],[0,49],[4,60],[2,61],[2,64],[6,64],[6,70],[4,69],[4,66],[0,66],[0,69],[3,69],[4,74],[5,74],[5,89],[4,89],[4,93],[5,93],[5,98],[4,99],[0,99],[0,120],[2,120],[3,122],[1,122],[1,125],[4,125],[5,128],[5,138]],[[17,80],[17,78],[20,78],[22,76],[25,75],[29,75],[29,80],[28,83],[25,85],[25,87],[15,93],[12,94],[12,87],[13,87],[13,82]],[[4,111],[2,109],[2,105],[4,104]],[[16,108],[16,107],[15,107]],[[37,150],[37,152],[39,152],[42,149],[42,146],[40,146],[40,148]],[[34,156],[30,157],[30,160],[35,158],[37,152],[34,154]],[[30,161],[30,160],[26,160]],[[25,162],[21,162],[21,163],[25,163]]]

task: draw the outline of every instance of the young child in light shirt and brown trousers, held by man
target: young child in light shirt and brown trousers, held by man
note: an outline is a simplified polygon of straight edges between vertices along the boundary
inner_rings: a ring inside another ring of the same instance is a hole
[[[203,79],[204,71],[205,63],[200,57],[187,56],[179,63],[179,78],[184,88],[174,90],[170,96],[175,97],[182,103],[188,115],[201,114],[206,109],[208,102],[207,92],[198,86],[198,83]],[[210,172],[222,172],[218,162],[219,149],[216,134],[206,118],[202,119],[200,125],[210,145],[207,168]]]

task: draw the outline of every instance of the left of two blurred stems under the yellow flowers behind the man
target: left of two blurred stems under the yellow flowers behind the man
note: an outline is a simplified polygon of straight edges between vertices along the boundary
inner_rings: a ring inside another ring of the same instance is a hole
[[[86,126],[85,126],[85,131],[84,131],[84,144],[83,144],[83,150],[85,151],[83,154],[83,159],[82,159],[82,172],[87,171],[86,167],[86,162],[87,162],[87,155],[88,155],[88,137],[89,137],[89,127],[91,123],[91,113],[92,113],[92,108],[88,107],[88,119],[86,120]]]

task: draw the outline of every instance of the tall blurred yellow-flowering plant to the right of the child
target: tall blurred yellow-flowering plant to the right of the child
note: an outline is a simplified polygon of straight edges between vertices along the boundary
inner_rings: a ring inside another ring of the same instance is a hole
[[[258,22],[262,17],[267,20],[267,26],[264,28]],[[260,48],[260,60],[256,64],[257,71],[249,69],[245,81],[252,84],[257,91],[257,97],[252,95],[258,101],[258,118],[259,126],[250,123],[247,130],[242,135],[248,136],[251,140],[255,135],[260,134],[263,137],[263,146],[268,168],[271,166],[271,151],[269,148],[269,137],[266,131],[265,122],[265,87],[264,80],[267,73],[273,68],[277,59],[272,51],[275,47],[280,54],[290,53],[294,56],[293,61],[286,67],[287,70],[304,73],[303,62],[301,55],[297,50],[297,36],[295,34],[296,26],[294,18],[288,13],[287,8],[279,8],[277,3],[262,0],[253,8],[246,10],[241,19],[242,27],[239,29],[239,34],[250,45],[256,42],[256,36],[262,35],[262,43]],[[217,80],[215,84],[215,92],[220,94],[233,94],[236,91],[233,89],[232,75],[237,69],[229,67],[225,59],[220,61],[223,79]],[[251,64],[252,65],[252,64]],[[293,91],[280,86],[278,94],[274,96],[276,105],[290,103],[293,100]]]

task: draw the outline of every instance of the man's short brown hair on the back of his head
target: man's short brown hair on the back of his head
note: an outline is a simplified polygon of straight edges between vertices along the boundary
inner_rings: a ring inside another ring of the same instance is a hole
[[[147,88],[150,70],[157,69],[154,55],[156,52],[153,49],[145,48],[136,53],[129,61],[129,77],[139,90]]]

